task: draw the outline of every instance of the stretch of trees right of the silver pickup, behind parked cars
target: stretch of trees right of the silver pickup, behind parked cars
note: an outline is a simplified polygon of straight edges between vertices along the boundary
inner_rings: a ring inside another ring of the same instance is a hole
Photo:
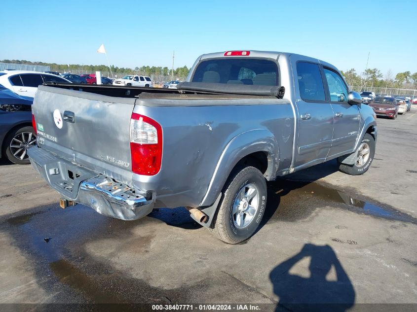
[[[362,74],[358,74],[355,69],[341,71],[346,82],[350,86],[380,87],[380,88],[417,88],[417,72],[399,72],[395,76],[392,70],[383,75],[379,69],[365,69]]]

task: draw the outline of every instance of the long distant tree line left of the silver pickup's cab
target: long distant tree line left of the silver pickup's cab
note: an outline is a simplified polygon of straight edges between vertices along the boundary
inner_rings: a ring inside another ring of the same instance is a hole
[[[42,66],[49,66],[51,70],[57,70],[60,72],[68,71],[68,64],[56,64],[56,63],[44,63],[44,62],[31,62],[26,60],[2,60],[2,63],[14,63],[14,64],[28,64],[28,65],[42,65]],[[80,65],[80,64],[70,64],[71,69],[78,69],[78,70],[90,70],[90,71],[109,71],[109,67],[107,65]],[[170,76],[172,69],[168,67],[161,67],[161,66],[141,66],[127,68],[127,67],[117,67],[111,65],[111,69],[113,72],[124,72],[126,74],[133,74],[137,72],[141,72],[147,76],[153,75],[162,75],[162,76]],[[178,77],[187,77],[190,69],[187,66],[178,67],[174,69],[174,76]]]

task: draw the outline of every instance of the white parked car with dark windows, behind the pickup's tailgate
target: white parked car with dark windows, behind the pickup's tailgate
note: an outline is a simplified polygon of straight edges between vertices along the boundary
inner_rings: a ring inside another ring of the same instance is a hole
[[[63,77],[39,71],[3,70],[0,71],[0,84],[24,97],[35,97],[38,85],[47,82],[71,82]]]

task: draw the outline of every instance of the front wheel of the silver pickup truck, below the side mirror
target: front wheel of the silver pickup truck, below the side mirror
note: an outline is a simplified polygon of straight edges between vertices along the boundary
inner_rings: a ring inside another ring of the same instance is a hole
[[[347,173],[350,175],[358,175],[366,173],[369,167],[374,160],[375,155],[375,139],[369,133],[365,134],[361,143],[359,144],[358,150],[355,153],[358,153],[358,157],[353,165],[346,165],[339,163],[339,170],[342,173]],[[366,159],[362,158],[362,161],[359,160],[359,153],[360,151],[365,151],[366,148],[369,148],[369,152],[367,154],[363,153],[363,156],[366,156]],[[363,163],[362,163],[363,162]]]

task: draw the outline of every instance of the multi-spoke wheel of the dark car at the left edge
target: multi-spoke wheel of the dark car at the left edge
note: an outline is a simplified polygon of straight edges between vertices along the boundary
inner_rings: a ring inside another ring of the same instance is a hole
[[[22,142],[25,146],[19,147],[19,145],[22,144],[19,143],[19,141]],[[30,161],[26,151],[29,147],[32,147],[35,144],[36,136],[33,127],[26,126],[17,128],[14,131],[11,131],[4,139],[3,153],[6,155],[7,159],[14,164],[28,165],[30,164]],[[16,156],[14,154],[16,154]],[[19,157],[21,155],[23,155],[23,159]]]

